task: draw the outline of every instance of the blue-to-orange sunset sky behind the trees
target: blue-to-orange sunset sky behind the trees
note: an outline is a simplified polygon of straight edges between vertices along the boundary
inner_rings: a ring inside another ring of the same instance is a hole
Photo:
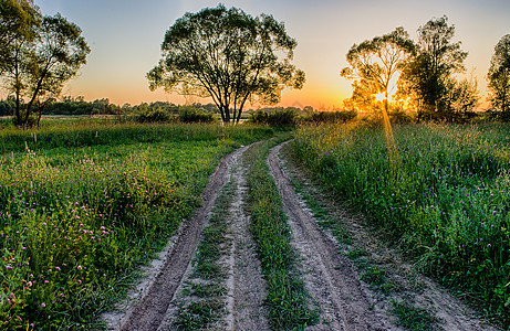
[[[207,0],[35,0],[43,14],[60,12],[76,23],[92,49],[87,64],[69,82],[64,95],[86,100],[137,105],[167,100],[176,104],[207,99],[150,92],[145,74],[162,57],[165,32],[186,12],[217,7]],[[354,43],[403,26],[416,40],[416,30],[433,18],[448,17],[455,41],[469,53],[466,75],[473,75],[487,99],[487,72],[493,47],[510,33],[509,0],[240,0],[221,1],[257,17],[272,14],[298,41],[293,63],[306,74],[300,90],[287,89],[280,106],[342,108],[351,82],[340,76],[345,54]]]

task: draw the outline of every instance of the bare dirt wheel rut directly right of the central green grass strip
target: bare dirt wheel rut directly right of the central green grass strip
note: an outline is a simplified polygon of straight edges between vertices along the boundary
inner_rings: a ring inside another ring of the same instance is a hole
[[[284,142],[287,143],[287,142]],[[321,310],[321,323],[308,330],[389,330],[385,316],[370,309],[360,284],[360,275],[347,257],[319,228],[311,213],[295,193],[283,171],[278,153],[284,143],[271,150],[268,157],[284,211],[292,228],[292,245],[301,255],[306,289]]]

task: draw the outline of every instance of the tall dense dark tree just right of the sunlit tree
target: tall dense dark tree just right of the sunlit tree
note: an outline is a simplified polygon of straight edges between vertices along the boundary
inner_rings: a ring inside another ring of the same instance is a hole
[[[399,89],[416,102],[418,114],[444,116],[448,114],[448,95],[451,95],[451,75],[465,70],[468,53],[460,42],[451,42],[455,26],[448,18],[433,19],[418,29],[417,52],[405,66],[399,79]]]

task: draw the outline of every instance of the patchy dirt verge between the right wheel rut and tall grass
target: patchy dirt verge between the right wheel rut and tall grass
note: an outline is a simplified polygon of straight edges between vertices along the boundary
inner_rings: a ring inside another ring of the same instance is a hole
[[[451,296],[447,289],[414,270],[413,266],[405,261],[399,250],[388,247],[386,234],[370,226],[368,221],[363,215],[353,214],[344,204],[334,201],[330,194],[321,192],[313,183],[313,175],[292,159],[290,156],[291,148],[284,147],[284,149],[285,151],[282,152],[285,164],[283,175],[287,177],[285,172],[288,172],[303,186],[306,186],[306,190],[313,192],[311,194],[334,220],[340,222],[342,228],[346,231],[346,235],[352,238],[352,243],[340,244],[330,231],[322,229],[330,241],[335,243],[337,254],[342,253],[343,256],[346,256],[350,253],[365,252],[366,261],[382,270],[387,277],[386,285],[394,287],[393,291],[381,292],[372,288],[370,284],[361,281],[360,290],[365,295],[371,312],[377,317],[376,319],[382,318],[379,322],[384,321],[384,325],[376,325],[377,328],[404,330],[403,327],[395,325],[397,318],[392,317],[394,314],[393,302],[407,302],[419,309],[425,309],[435,317],[436,322],[425,325],[428,328],[426,330],[499,330],[480,319],[479,313]],[[282,160],[278,151],[275,152],[274,158],[278,158],[278,166],[281,166]],[[304,202],[302,204],[304,205]]]

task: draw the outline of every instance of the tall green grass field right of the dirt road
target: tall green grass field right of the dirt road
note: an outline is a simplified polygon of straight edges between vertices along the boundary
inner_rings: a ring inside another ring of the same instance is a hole
[[[302,127],[294,147],[339,199],[394,238],[415,266],[510,323],[510,127]]]

